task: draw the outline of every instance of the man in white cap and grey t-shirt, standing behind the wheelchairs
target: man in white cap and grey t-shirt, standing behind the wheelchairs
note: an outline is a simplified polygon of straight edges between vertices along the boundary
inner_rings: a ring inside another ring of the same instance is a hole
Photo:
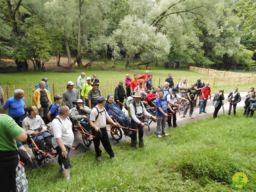
[[[78,99],[78,91],[74,88],[74,83],[69,81],[67,83],[67,89],[63,92],[62,95],[62,106],[66,105],[68,108],[70,108],[72,106],[72,101]]]

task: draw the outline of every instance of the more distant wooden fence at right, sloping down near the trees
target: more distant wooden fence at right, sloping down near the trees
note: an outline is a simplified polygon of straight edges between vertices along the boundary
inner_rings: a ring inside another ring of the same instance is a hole
[[[231,77],[231,76],[250,77],[252,76],[250,74],[236,73],[236,72],[229,72],[229,71],[218,71],[214,69],[206,69],[206,68],[200,68],[200,67],[194,67],[194,66],[190,66],[189,70],[206,74],[207,76],[218,76],[218,77]]]

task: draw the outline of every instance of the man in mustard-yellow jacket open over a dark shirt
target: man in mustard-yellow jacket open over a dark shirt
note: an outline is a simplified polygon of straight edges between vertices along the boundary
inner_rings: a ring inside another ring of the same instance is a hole
[[[49,104],[52,104],[50,93],[45,89],[46,84],[44,81],[39,83],[39,89],[35,90],[32,101],[38,109],[41,117],[47,115]]]

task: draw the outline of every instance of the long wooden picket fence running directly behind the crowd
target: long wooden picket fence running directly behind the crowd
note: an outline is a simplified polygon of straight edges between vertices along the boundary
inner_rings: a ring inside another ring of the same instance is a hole
[[[187,78],[188,84],[195,83],[197,79],[201,79],[204,82],[209,82],[210,87],[218,87],[218,86],[238,86],[243,84],[255,84],[256,76],[204,76],[204,77],[189,77]],[[182,82],[182,77],[174,77],[174,86],[177,86],[179,82]],[[154,78],[153,85],[156,88],[159,85],[164,86],[165,78]],[[99,89],[102,93],[102,96],[107,97],[108,94],[112,93],[114,95],[115,88],[119,84],[119,80],[102,80],[100,81]],[[33,88],[36,84],[22,84],[22,85],[6,85],[2,86],[4,91],[4,95],[6,100],[14,95],[14,90],[22,89],[25,93],[26,105],[32,105],[32,96],[33,96]],[[64,90],[66,90],[66,84],[49,84],[50,94],[53,100],[54,94],[62,95]],[[76,85],[75,85],[76,88]]]

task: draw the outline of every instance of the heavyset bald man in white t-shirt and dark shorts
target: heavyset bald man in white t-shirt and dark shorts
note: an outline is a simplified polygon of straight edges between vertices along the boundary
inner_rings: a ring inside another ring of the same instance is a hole
[[[67,106],[60,107],[59,115],[52,120],[50,130],[53,135],[52,146],[58,154],[59,170],[62,172],[64,178],[70,181],[70,168],[72,165],[70,163],[69,152],[74,142],[74,134],[68,115],[69,108]]]

